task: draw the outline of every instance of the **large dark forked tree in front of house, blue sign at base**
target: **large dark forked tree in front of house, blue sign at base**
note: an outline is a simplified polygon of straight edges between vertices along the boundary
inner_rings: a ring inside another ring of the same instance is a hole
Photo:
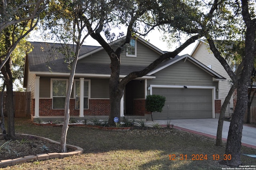
[[[100,1],[98,3],[102,6],[98,12],[100,19],[94,21],[94,23],[98,24],[90,24],[90,18],[88,18],[86,15],[84,20],[88,22],[87,29],[90,32],[92,38],[99,42],[111,60],[111,76],[109,82],[110,113],[108,123],[114,125],[114,117],[120,118],[120,100],[122,98],[123,90],[126,84],[134,78],[146,75],[148,72],[150,72],[150,70],[154,69],[162,61],[168,58],[174,58],[189,44],[200,38],[202,33],[198,34],[198,32],[195,31],[199,29],[199,27],[194,24],[194,21],[200,19],[200,16],[194,15],[197,11],[194,6],[190,6],[185,2],[179,1],[175,1],[174,4],[170,4],[170,1],[165,0],[138,0],[136,2],[129,0],[126,2]],[[166,12],[170,12],[170,15],[166,15],[165,12],[163,12],[164,5],[166,4],[168,4],[169,7]],[[163,20],[163,18],[166,20]],[[184,22],[180,22],[182,19],[185,19],[191,25],[186,26]],[[117,24],[113,24],[111,21],[116,21]],[[188,38],[184,44],[180,45],[180,47],[173,52],[167,52],[160,56],[144,70],[131,72],[122,80],[120,80],[120,54],[126,50],[126,46],[130,43],[130,39],[134,33],[146,35],[148,32],[150,32],[150,30],[166,23],[169,23],[168,29],[172,32],[176,32],[177,30],[187,30],[189,32],[190,38]],[[104,32],[108,40],[113,40],[112,35],[115,36],[115,34],[111,34],[111,29],[109,26],[110,24],[111,26],[124,24],[127,28],[126,37],[122,44],[120,44],[117,48],[113,48],[110,44],[108,44],[100,34],[101,32]],[[94,25],[96,25],[96,28]],[[95,29],[95,31],[93,29]],[[140,33],[140,29],[144,31]]]

